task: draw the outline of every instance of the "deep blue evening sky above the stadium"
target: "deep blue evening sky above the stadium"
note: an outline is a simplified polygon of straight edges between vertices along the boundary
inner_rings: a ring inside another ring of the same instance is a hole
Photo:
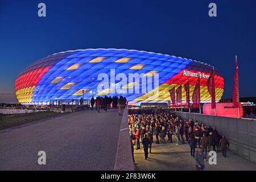
[[[47,6],[39,18],[38,3]],[[210,2],[217,17],[208,16]],[[14,93],[16,76],[52,53],[127,48],[214,65],[232,97],[235,55],[240,96],[256,96],[256,1],[11,1],[0,0],[0,93]],[[0,94],[0,102],[15,95]]]

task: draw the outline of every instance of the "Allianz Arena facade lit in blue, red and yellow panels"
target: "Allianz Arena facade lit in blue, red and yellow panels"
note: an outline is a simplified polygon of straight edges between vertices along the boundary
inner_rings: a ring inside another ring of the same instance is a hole
[[[92,96],[122,96],[131,103],[167,102],[168,92],[189,80],[192,100],[200,77],[201,102],[210,102],[206,81],[212,66],[176,56],[127,49],[82,49],[47,56],[29,65],[15,81],[18,101],[47,105],[50,100]],[[224,92],[224,78],[215,69],[216,101]],[[137,74],[138,73],[138,74]],[[139,75],[139,79],[131,76]],[[145,78],[146,77],[146,78]],[[119,88],[119,89],[117,89]]]

